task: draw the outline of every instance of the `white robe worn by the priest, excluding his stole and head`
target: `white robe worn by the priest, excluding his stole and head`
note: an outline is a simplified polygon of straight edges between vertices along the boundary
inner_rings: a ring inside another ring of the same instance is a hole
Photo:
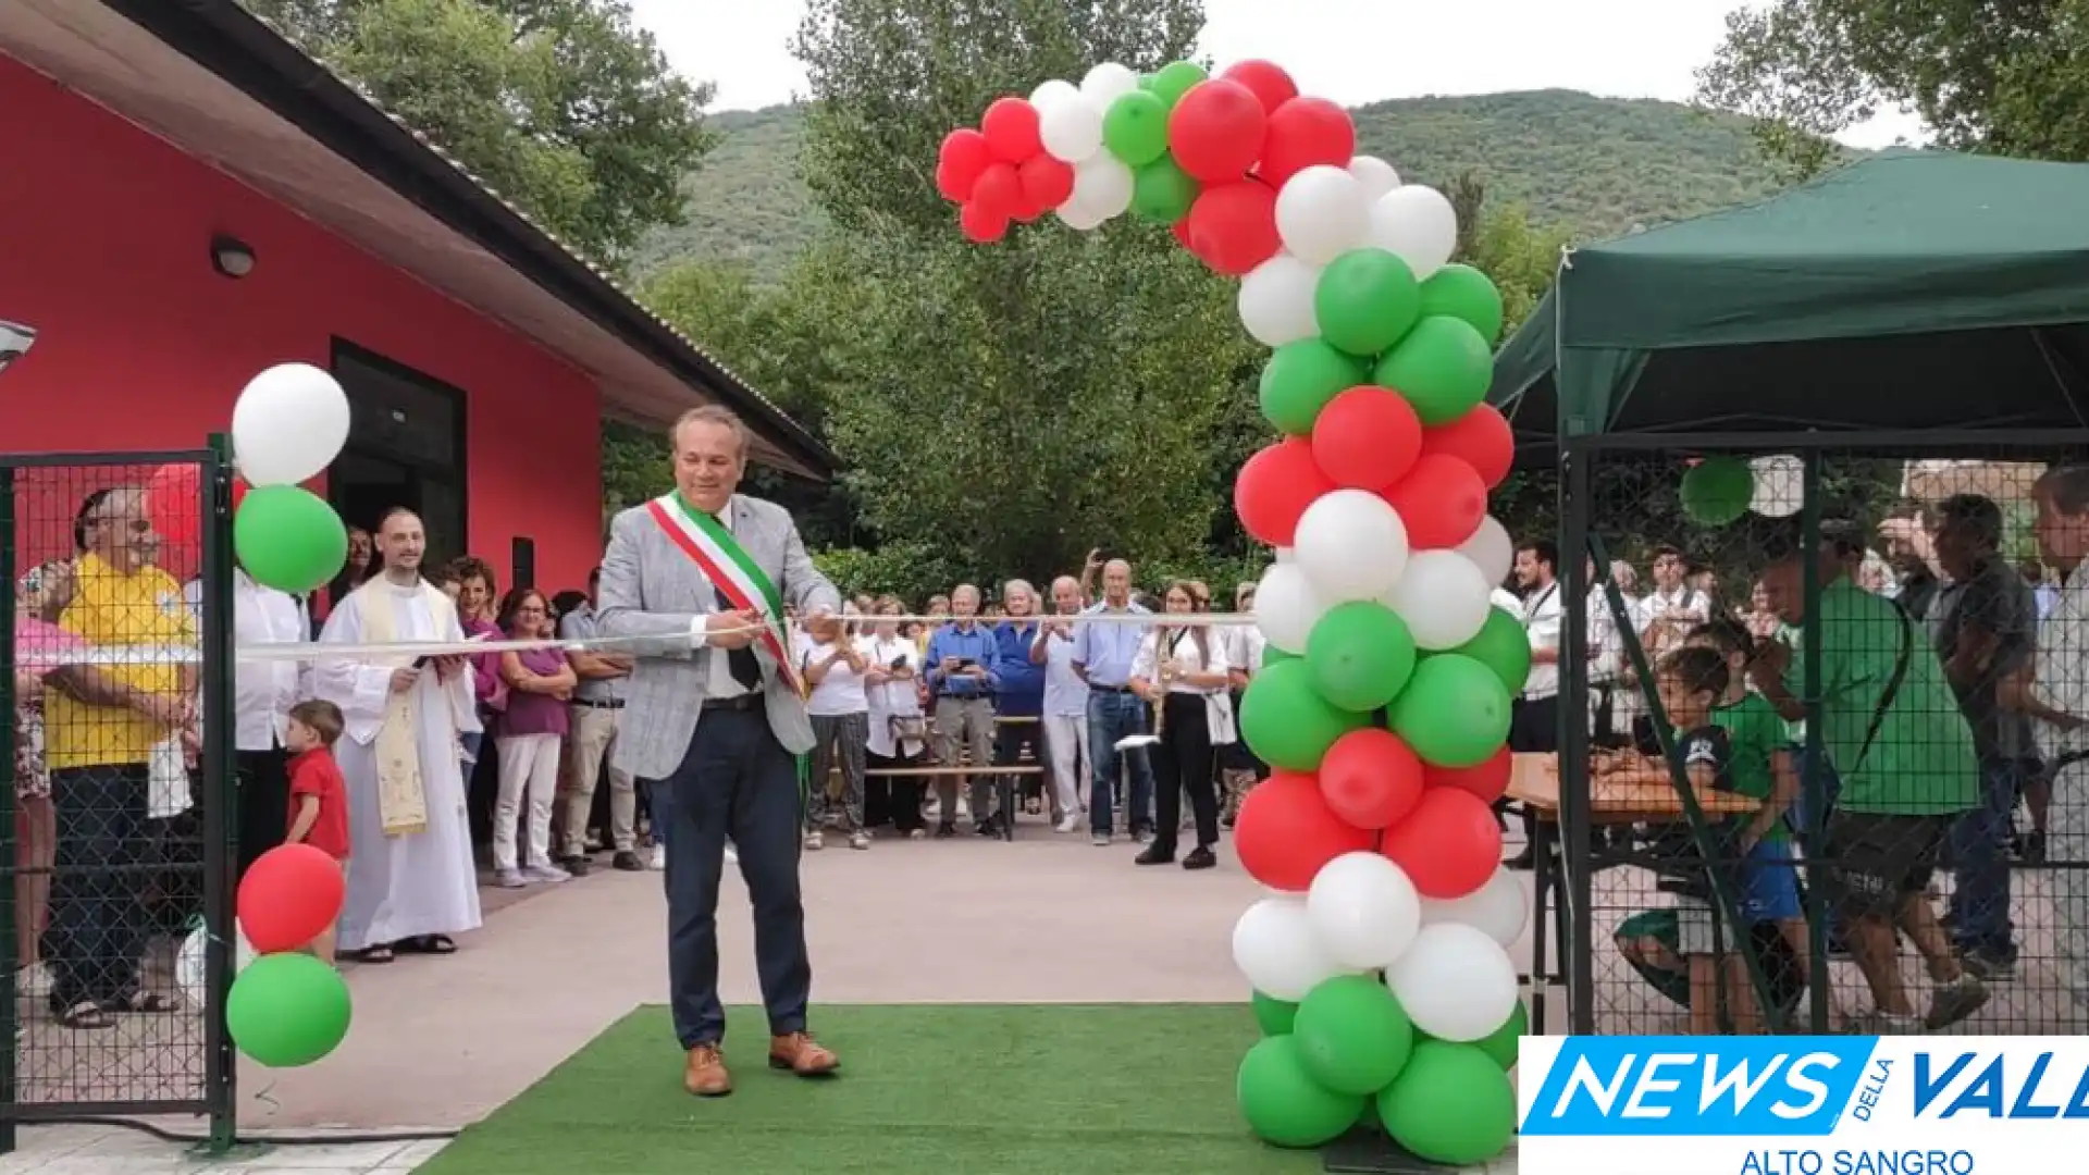
[[[382,623],[370,623],[366,592],[389,594],[393,633],[382,633]],[[430,606],[424,583],[399,588],[380,579],[334,608],[320,644],[374,642],[378,638],[370,633],[372,627],[389,640],[464,640],[455,608]],[[472,828],[464,813],[464,769],[457,759],[457,734],[478,730],[472,673],[466,667],[443,682],[428,667],[409,692],[426,830],[397,836],[384,834],[378,797],[378,732],[384,725],[391,677],[389,663],[326,656],[315,661],[311,673],[313,696],[341,707],[347,719],[347,732],[334,744],[334,759],[349,786],[351,853],[349,895],[341,909],[343,951],[420,935],[457,935],[476,930],[480,922]]]

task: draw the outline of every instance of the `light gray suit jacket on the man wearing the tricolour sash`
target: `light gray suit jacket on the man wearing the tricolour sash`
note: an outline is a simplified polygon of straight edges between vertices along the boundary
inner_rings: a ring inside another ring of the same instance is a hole
[[[842,610],[842,598],[813,567],[792,523],[775,502],[733,496],[727,527],[748,556],[769,573],[783,600],[800,613]],[[625,721],[616,734],[614,763],[646,780],[664,780],[681,767],[696,734],[710,684],[710,659],[725,656],[691,640],[696,617],[717,613],[719,592],[696,562],[675,546],[646,506],[633,506],[610,523],[610,548],[602,554],[602,585],[595,596],[600,636],[658,636],[660,642],[633,648],[637,667],[625,688]],[[792,755],[813,748],[813,723],[804,700],[792,692],[775,659],[754,644],[762,663],[769,730]]]

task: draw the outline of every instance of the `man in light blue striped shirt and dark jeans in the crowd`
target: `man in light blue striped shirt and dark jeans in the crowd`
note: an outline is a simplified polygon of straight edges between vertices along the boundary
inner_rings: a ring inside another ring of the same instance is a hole
[[[1097,615],[1151,615],[1132,602],[1132,565],[1113,558],[1103,565],[1103,602],[1086,608]],[[1130,621],[1086,623],[1074,629],[1074,673],[1088,684],[1088,830],[1097,847],[1107,847],[1111,826],[1111,792],[1118,784],[1118,740],[1147,732],[1147,702],[1132,694],[1132,656],[1145,640],[1147,625]],[[1132,769],[1132,794],[1124,805],[1124,822],[1141,845],[1153,840],[1153,765],[1145,751],[1124,755]]]

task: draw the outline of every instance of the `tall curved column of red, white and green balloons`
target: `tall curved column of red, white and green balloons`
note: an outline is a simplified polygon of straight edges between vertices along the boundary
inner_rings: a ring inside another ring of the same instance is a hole
[[[1274,767],[1237,824],[1241,863],[1274,891],[1233,935],[1266,1031],[1241,1110],[1276,1146],[1375,1121],[1464,1165],[1515,1131],[1523,1031],[1508,945],[1525,895],[1489,811],[1531,667],[1521,621],[1489,602],[1515,556],[1487,516],[1512,460],[1483,404],[1502,297],[1450,261],[1441,192],[1354,151],[1349,115],[1266,61],[1218,77],[1105,63],[994,102],[944,140],[936,180],[971,240],[1132,211],[1241,278],[1281,433],[1235,483],[1241,523],[1276,548],[1241,702]]]

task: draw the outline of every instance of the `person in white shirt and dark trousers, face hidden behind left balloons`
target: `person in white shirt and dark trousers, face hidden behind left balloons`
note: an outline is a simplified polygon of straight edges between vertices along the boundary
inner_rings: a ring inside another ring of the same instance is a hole
[[[182,590],[188,610],[203,623],[203,579],[190,579]],[[305,644],[311,640],[311,613],[305,602],[286,592],[263,588],[232,569],[232,642]],[[232,667],[232,744],[238,751],[238,876],[276,845],[290,826],[290,755],[284,736],[290,730],[290,707],[305,698],[307,665],[301,661],[236,661]]]

